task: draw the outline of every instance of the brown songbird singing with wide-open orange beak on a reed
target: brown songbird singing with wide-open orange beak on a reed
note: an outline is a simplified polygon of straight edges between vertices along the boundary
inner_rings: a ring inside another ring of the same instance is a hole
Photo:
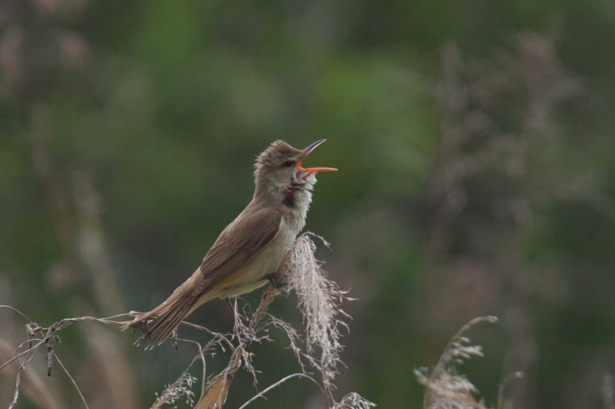
[[[135,315],[133,321],[122,327],[144,330],[135,345],[152,335],[149,348],[161,345],[199,305],[218,297],[228,303],[229,297],[253,291],[268,282],[306,224],[316,172],[337,170],[301,166],[301,161],[325,140],[318,140],[304,150],[276,140],[258,156],[252,201],[221,232],[200,267],[161,305]],[[146,324],[156,318],[156,323],[146,329]]]

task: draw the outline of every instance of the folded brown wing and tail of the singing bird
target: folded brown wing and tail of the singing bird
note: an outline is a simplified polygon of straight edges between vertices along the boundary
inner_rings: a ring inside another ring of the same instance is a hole
[[[191,278],[180,286],[159,307],[141,316],[130,325],[135,326],[139,322],[159,315],[158,321],[145,334],[138,338],[136,345],[140,345],[146,338],[156,334],[148,348],[160,345],[169,337],[175,328],[190,313],[192,306],[207,291],[214,288],[225,278],[239,270],[250,261],[256,254],[272,242],[279,231],[281,213],[275,208],[263,207],[253,211],[251,205],[229,224],[220,234],[218,240],[213,243],[203,259],[199,269]]]

